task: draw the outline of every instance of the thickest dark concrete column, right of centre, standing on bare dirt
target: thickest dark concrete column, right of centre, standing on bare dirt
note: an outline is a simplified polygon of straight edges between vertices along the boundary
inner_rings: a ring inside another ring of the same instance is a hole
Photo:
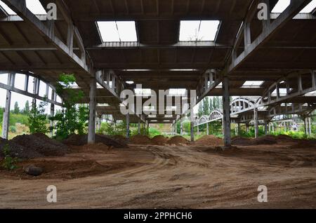
[[[223,79],[223,128],[224,128],[224,145],[230,147],[230,88],[228,77]]]

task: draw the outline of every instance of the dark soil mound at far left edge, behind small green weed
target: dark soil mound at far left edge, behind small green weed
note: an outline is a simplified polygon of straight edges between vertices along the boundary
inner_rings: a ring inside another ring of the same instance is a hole
[[[0,137],[0,157],[4,157],[3,149],[8,145],[10,149],[10,156],[17,157],[17,158],[37,158],[41,157],[42,155],[39,154],[32,148],[24,147],[20,144],[17,144],[12,141],[4,140]]]

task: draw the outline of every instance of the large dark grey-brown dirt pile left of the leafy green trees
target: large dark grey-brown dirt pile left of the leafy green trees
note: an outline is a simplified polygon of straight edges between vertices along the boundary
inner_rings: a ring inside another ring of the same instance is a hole
[[[27,149],[35,150],[42,156],[64,156],[69,152],[65,144],[53,140],[44,134],[18,135],[11,142]]]

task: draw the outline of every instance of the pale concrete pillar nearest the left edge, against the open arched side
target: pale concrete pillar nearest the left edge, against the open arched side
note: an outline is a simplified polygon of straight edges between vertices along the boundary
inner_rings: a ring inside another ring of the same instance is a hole
[[[14,86],[14,73],[8,74],[8,86]],[[6,90],[6,107],[4,108],[4,117],[2,121],[2,138],[8,140],[8,127],[10,121],[10,107],[11,107],[11,90]]]

